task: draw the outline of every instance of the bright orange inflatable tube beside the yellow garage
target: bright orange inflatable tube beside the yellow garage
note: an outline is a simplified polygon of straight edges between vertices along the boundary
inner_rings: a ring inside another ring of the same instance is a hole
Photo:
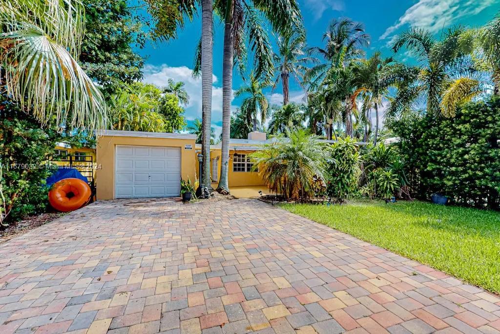
[[[86,182],[68,178],[54,184],[48,192],[48,202],[58,211],[69,212],[82,207],[90,195],[90,187]]]

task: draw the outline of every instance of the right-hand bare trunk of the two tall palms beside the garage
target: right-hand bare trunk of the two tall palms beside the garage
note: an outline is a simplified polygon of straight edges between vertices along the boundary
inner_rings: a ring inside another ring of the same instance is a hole
[[[229,191],[227,169],[229,166],[229,135],[231,132],[231,95],[234,35],[232,32],[232,0],[227,4],[224,27],[224,55],[222,58],[222,163],[217,190]]]

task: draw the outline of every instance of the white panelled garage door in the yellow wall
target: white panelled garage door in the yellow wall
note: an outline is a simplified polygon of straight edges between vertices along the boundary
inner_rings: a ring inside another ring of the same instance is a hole
[[[176,197],[180,148],[116,146],[115,197]]]

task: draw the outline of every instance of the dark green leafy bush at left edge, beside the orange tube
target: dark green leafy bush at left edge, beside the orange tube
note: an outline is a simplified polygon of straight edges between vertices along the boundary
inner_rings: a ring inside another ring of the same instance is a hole
[[[49,158],[61,139],[53,128],[40,124],[9,102],[0,101],[0,178],[5,222],[43,212],[48,204],[45,179],[50,175]]]

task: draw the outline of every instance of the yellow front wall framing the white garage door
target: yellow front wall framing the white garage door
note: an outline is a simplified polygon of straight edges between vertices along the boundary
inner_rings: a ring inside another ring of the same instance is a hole
[[[114,154],[116,145],[137,146],[167,146],[180,147],[180,170],[181,177],[191,181],[195,178],[195,149],[194,139],[169,139],[169,138],[145,138],[145,137],[119,137],[100,136],[97,138],[97,199],[114,199]],[[186,150],[185,145],[191,145],[191,150]]]

